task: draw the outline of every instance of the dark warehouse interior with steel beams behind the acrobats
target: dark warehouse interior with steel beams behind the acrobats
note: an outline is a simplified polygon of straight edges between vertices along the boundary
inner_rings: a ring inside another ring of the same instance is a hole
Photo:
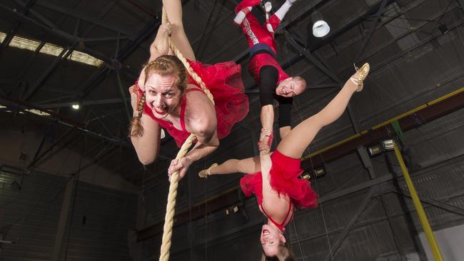
[[[232,23],[238,2],[182,1],[196,58],[241,64],[249,111],[179,182],[170,260],[261,258],[265,218],[241,175],[197,175],[258,155],[261,106]],[[142,165],[127,135],[128,87],[161,10],[159,0],[1,1],[0,260],[158,260],[178,147],[166,133],[156,161]],[[322,38],[311,33],[315,11],[331,28]],[[264,19],[262,7],[254,12]],[[391,140],[443,260],[464,260],[463,24],[463,0],[293,4],[275,38],[279,63],[308,83],[292,126],[331,101],[353,63],[370,63],[363,91],[301,159],[319,206],[288,224],[296,260],[438,260]]]

